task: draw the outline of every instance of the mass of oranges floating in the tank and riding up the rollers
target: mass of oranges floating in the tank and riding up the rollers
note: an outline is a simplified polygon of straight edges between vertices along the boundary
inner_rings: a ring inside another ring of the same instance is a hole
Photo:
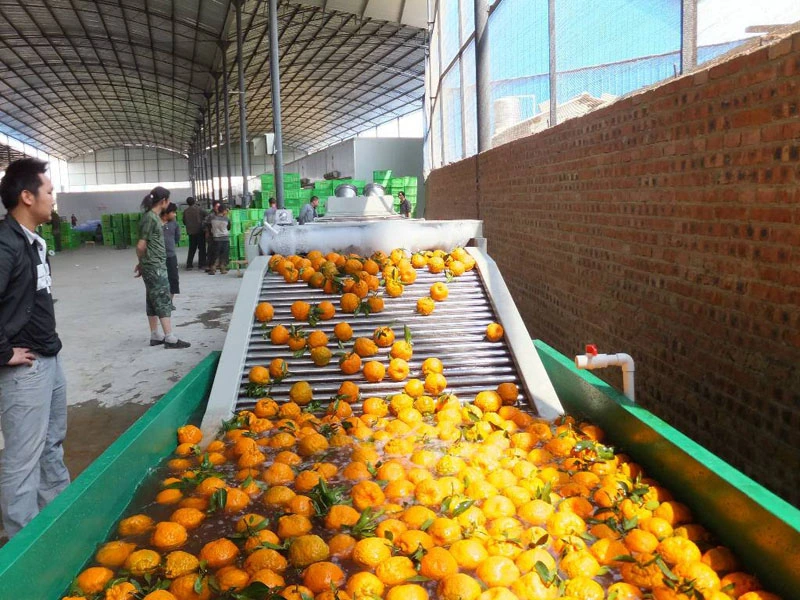
[[[359,268],[386,277],[386,260],[401,272],[400,255],[273,261],[290,279],[314,269],[310,279],[326,285]],[[452,253],[409,264],[444,272],[454,262],[468,268]],[[255,317],[270,321],[271,307]],[[487,335],[501,339],[498,328]],[[596,426],[532,416],[510,382],[457,398],[447,365],[430,358],[410,372],[410,344],[386,326],[371,339],[352,340],[346,323],[323,335],[352,343],[343,372],[390,378],[396,392],[362,397],[361,379],[347,378],[314,412],[312,386],[295,381],[287,397],[236,415],[204,451],[199,429],[180,428],[154,503],[120,521],[69,598],[777,598]],[[378,348],[391,349],[388,367],[374,360]],[[287,376],[279,360],[251,380]]]

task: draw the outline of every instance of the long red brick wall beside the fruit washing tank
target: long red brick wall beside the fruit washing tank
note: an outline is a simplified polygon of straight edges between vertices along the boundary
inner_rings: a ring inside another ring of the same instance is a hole
[[[800,34],[427,186],[428,218],[484,220],[533,337],[630,353],[642,405],[800,505]]]

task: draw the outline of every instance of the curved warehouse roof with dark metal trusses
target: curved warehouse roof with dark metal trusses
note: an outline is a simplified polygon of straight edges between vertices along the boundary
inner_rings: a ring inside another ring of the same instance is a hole
[[[420,108],[426,10],[280,0],[284,143],[317,148]],[[272,130],[267,22],[266,0],[244,2],[250,135]],[[231,0],[4,0],[0,131],[63,158],[127,144],[186,153],[205,94],[213,106],[222,40],[238,140],[235,39]]]

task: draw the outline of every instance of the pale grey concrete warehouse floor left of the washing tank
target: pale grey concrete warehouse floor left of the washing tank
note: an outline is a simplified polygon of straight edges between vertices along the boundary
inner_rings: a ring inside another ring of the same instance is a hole
[[[178,261],[185,265],[186,248],[178,248]],[[235,271],[210,276],[181,266],[173,328],[192,347],[166,350],[149,345],[133,249],[68,250],[51,264],[68,382],[64,448],[75,478],[209,352],[222,349],[242,280]]]

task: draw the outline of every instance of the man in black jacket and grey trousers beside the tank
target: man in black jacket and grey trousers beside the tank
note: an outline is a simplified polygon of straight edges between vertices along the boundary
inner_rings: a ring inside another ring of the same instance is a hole
[[[0,180],[8,211],[0,224],[0,511],[9,537],[69,484],[62,447],[67,382],[47,245],[35,233],[53,209],[46,169],[45,162],[23,158]]]

